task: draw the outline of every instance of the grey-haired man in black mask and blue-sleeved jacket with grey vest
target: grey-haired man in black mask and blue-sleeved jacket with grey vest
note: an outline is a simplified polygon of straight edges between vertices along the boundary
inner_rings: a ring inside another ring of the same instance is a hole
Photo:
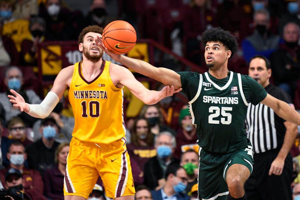
[[[260,9],[253,14],[253,25],[255,30],[252,35],[246,37],[242,42],[243,57],[250,62],[255,55],[263,55],[269,58],[280,43],[280,37],[273,35],[270,31],[270,13],[266,9]]]

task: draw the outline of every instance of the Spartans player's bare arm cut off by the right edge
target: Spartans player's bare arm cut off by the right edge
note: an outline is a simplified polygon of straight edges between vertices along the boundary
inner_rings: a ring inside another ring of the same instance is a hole
[[[267,94],[267,97],[261,103],[272,108],[279,117],[300,126],[300,114],[286,102]]]

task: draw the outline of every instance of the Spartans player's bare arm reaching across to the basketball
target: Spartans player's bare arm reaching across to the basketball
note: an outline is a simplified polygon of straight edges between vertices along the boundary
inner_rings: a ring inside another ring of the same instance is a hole
[[[124,66],[136,71],[137,73],[153,78],[165,85],[173,85],[175,89],[181,88],[180,75],[173,70],[167,68],[156,68],[142,60],[111,53],[104,47],[100,37],[98,37],[97,40],[95,39],[95,41],[105,53],[107,53],[115,61],[122,63]]]

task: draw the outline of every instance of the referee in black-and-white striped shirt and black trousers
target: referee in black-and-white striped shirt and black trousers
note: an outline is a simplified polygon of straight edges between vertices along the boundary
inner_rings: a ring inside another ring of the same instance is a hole
[[[293,107],[282,89],[270,84],[270,63],[264,56],[250,60],[249,76],[275,98]],[[292,200],[292,156],[289,151],[297,136],[297,125],[277,116],[263,104],[249,103],[246,118],[247,138],[253,146],[253,172],[245,183],[248,200]]]

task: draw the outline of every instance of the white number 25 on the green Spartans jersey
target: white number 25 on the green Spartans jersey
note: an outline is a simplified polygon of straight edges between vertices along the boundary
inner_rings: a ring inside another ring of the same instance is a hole
[[[214,113],[215,111],[215,113]],[[221,123],[222,124],[230,124],[231,123],[231,114],[230,113],[226,113],[226,111],[232,111],[232,107],[221,107],[221,115],[223,117],[227,117],[226,118],[221,118]],[[208,116],[208,123],[210,124],[220,124],[219,120],[214,120],[213,118],[219,117],[220,116],[220,108],[217,106],[211,106],[208,109],[209,113],[213,113],[210,114]]]

